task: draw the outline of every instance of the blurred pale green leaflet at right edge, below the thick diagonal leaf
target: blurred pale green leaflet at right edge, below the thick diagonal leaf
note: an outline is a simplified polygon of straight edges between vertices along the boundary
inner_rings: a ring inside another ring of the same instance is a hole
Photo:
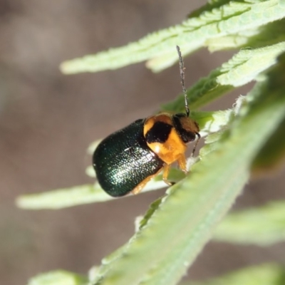
[[[285,201],[227,215],[214,232],[214,239],[236,244],[268,246],[285,241]]]

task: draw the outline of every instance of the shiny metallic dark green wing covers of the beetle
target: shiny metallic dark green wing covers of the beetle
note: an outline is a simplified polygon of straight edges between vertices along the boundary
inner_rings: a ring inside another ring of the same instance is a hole
[[[93,155],[98,182],[105,192],[120,197],[159,171],[164,162],[147,147],[143,119],[109,135]]]

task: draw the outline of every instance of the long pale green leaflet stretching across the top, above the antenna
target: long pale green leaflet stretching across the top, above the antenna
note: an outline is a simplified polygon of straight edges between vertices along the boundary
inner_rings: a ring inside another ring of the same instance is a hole
[[[187,55],[207,45],[209,39],[254,30],[285,17],[284,0],[223,1],[207,4],[182,24],[151,33],[137,42],[110,48],[95,55],[61,64],[63,73],[95,72],[148,61],[152,71],[161,71],[177,62],[175,46]],[[240,46],[237,41],[236,46]]]

